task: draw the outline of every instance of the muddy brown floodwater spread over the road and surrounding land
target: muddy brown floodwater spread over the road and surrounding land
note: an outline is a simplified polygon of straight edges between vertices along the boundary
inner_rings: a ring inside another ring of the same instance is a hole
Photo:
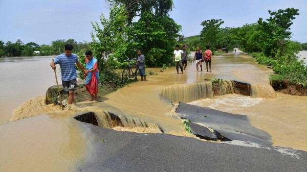
[[[160,72],[160,68],[148,68],[147,71],[153,70],[158,75],[148,75],[147,82],[132,83],[99,97],[102,102],[81,102],[64,111],[44,103],[43,94],[49,86],[55,85],[54,72],[49,66],[52,57],[29,59],[0,60],[2,72],[7,71],[3,67],[15,68],[23,78],[19,79],[17,74],[10,76],[8,72],[1,78],[6,82],[1,82],[0,171],[76,170],[76,164],[84,162],[90,155],[88,153],[93,151],[91,134],[82,131],[80,122],[73,118],[83,111],[94,111],[96,114],[109,111],[136,117],[149,124],[158,124],[165,133],[193,137],[184,130],[183,121],[174,113],[176,107],[160,94],[166,86],[199,83],[208,78],[254,84],[261,96],[228,94],[191,104],[248,115],[252,125],[271,134],[273,145],[307,151],[307,139],[304,137],[307,132],[307,97],[280,93],[272,97],[268,86],[272,70],[238,51],[236,54],[214,56],[212,73],[206,72],[205,64],[204,71],[197,72],[195,63],[189,63],[183,75],[178,75],[174,67],[164,72]],[[35,74],[37,66],[40,71]],[[18,103],[19,97],[23,96],[23,104]],[[159,132],[155,127],[146,130],[117,127],[116,130]]]

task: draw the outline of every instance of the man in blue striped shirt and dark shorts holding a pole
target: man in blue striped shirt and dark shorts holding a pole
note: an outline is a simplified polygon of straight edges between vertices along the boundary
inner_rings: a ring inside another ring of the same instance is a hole
[[[53,70],[56,69],[56,64],[60,65],[62,85],[64,87],[64,91],[68,92],[69,95],[68,104],[72,104],[74,102],[74,91],[77,90],[77,70],[75,63],[83,71],[83,73],[87,75],[86,70],[84,70],[79,62],[77,55],[72,53],[73,48],[73,45],[66,44],[64,50],[65,53],[57,56],[54,59],[54,62],[50,63]]]

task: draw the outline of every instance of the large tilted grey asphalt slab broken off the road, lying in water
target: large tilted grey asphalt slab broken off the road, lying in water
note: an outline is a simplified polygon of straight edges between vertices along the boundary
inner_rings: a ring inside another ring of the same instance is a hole
[[[252,126],[246,115],[236,115],[181,102],[176,109],[176,113],[179,113],[184,119],[202,123],[230,140],[272,145],[269,133]]]

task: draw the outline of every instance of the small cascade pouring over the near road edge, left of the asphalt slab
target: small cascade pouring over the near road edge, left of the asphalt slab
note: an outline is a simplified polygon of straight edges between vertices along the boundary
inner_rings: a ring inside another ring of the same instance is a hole
[[[125,127],[125,128],[146,128],[146,122],[130,116],[115,115],[107,111],[95,112],[98,125],[104,128]]]

